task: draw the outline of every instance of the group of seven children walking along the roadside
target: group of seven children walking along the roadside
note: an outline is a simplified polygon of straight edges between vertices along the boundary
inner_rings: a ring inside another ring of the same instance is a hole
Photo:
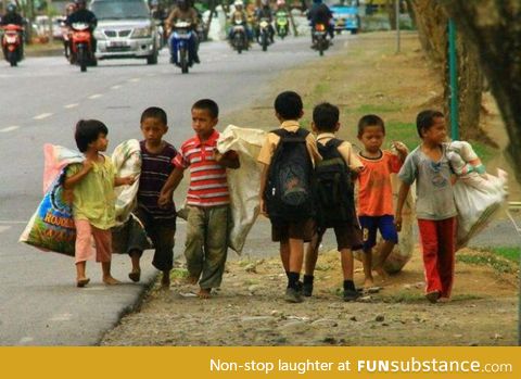
[[[218,112],[213,100],[196,101],[191,109],[195,136],[179,150],[163,140],[168,131],[166,113],[158,108],[149,108],[142,113],[142,165],[136,218],[125,225],[124,232],[111,230],[115,220],[114,187],[131,185],[135,178],[117,177],[111,160],[102,154],[107,147],[106,127],[99,121],[78,122],[75,138],[86,160],[67,167],[64,182],[65,188],[74,191],[78,287],[89,282],[86,261],[91,254],[91,236],[96,241],[97,262],[102,263],[103,281],[118,282],[110,270],[113,233],[131,257],[129,278],[132,281],[140,280],[140,257],[148,249],[148,236],[155,249],[152,264],[163,273],[162,286],[169,287],[176,230],[173,193],[186,169],[190,173],[185,247],[188,281],[199,283],[200,298],[208,298],[212,289],[220,286],[230,223],[226,169],[238,168],[240,162],[236,152],[220,154],[216,150]],[[383,263],[398,241],[402,209],[415,180],[427,299],[448,300],[454,273],[456,209],[445,154],[443,114],[424,111],[418,115],[421,144],[410,154],[401,142],[393,143],[397,154],[381,149],[385,127],[376,115],[360,118],[358,139],[363,150],[356,153],[350,142],[335,138],[340,128],[339,109],[330,103],[314,109],[312,128],[316,136],[298,123],[303,102],[297,93],[281,92],[275,100],[275,114],[280,128],[267,134],[257,157],[263,167],[259,203],[260,212],[271,222],[272,240],[280,243],[288,276],[285,301],[298,303],[303,295],[312,295],[318,247],[329,228],[334,230],[341,254],[344,301],[359,295],[353,281],[353,250],[364,250],[364,286],[373,286],[371,269],[383,275]],[[392,173],[399,173],[402,180],[395,211]],[[358,180],[357,207],[354,180]],[[378,262],[373,263],[371,251],[378,230],[384,243]],[[305,242],[309,244],[304,254]]]

